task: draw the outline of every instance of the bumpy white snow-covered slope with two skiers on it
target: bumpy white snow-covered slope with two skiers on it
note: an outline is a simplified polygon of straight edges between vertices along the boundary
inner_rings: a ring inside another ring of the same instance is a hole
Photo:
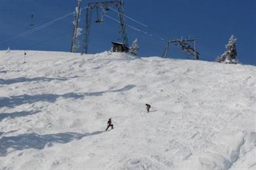
[[[255,66],[107,52],[23,62],[0,52],[1,170],[256,168]]]

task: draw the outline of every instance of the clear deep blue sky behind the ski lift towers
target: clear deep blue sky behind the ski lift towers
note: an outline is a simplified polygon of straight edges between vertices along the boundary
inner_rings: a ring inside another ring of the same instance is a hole
[[[82,0],[82,6],[86,6],[88,2],[96,1]],[[214,61],[216,56],[224,52],[225,44],[233,34],[237,37],[239,61],[256,65],[254,0],[124,0],[124,3],[127,16],[148,25],[143,27],[126,19],[127,24],[148,33],[145,35],[131,28],[127,30],[129,44],[136,38],[139,41],[139,56],[161,56],[167,40],[182,36],[195,37],[200,58]],[[6,50],[10,46],[11,49],[20,50],[69,51],[73,28],[72,15],[31,35],[5,40],[69,14],[76,4],[76,0],[0,0],[0,50]],[[30,26],[32,12],[35,24],[33,27]],[[107,15],[117,19],[114,11],[108,11]],[[82,11],[82,28],[84,19],[85,10]],[[121,41],[118,23],[106,17],[102,24],[97,24],[94,20],[91,25],[89,53],[109,50],[111,41]],[[174,45],[170,47],[168,57],[191,58]]]

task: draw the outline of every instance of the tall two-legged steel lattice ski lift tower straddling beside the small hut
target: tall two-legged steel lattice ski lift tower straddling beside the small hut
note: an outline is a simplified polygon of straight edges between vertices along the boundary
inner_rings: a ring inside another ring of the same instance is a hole
[[[99,12],[98,10],[102,10],[102,17],[106,11],[109,10],[110,7],[116,7],[118,11],[119,16],[119,23],[120,23],[120,33],[121,37],[123,39],[123,44],[125,46],[129,46],[128,44],[128,37],[127,37],[127,28],[126,23],[124,19],[124,9],[123,9],[123,0],[118,1],[108,1],[108,2],[94,2],[89,3],[86,8],[86,19],[85,19],[85,28],[84,28],[84,34],[83,34],[83,46],[82,46],[82,53],[81,54],[87,54],[88,53],[88,43],[89,43],[89,35],[90,35],[90,27],[91,27],[91,19],[93,16],[93,9],[96,9],[97,14],[97,20],[96,23],[102,23],[102,18],[99,19]]]

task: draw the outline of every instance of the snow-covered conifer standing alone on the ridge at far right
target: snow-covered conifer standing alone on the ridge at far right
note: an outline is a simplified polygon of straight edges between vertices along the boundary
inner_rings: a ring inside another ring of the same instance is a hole
[[[229,38],[226,44],[226,51],[216,58],[217,62],[221,63],[238,63],[237,61],[237,39],[233,35]]]

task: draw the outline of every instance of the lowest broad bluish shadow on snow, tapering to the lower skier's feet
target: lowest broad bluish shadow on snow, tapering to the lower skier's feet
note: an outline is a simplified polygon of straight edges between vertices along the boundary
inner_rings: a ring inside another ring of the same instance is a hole
[[[35,148],[42,150],[47,147],[51,147],[54,143],[69,143],[74,140],[82,139],[83,137],[97,135],[104,131],[94,131],[93,133],[57,133],[39,135],[35,133],[20,134],[14,137],[2,137],[0,139],[0,156],[7,156],[10,152],[21,151],[24,149]]]

